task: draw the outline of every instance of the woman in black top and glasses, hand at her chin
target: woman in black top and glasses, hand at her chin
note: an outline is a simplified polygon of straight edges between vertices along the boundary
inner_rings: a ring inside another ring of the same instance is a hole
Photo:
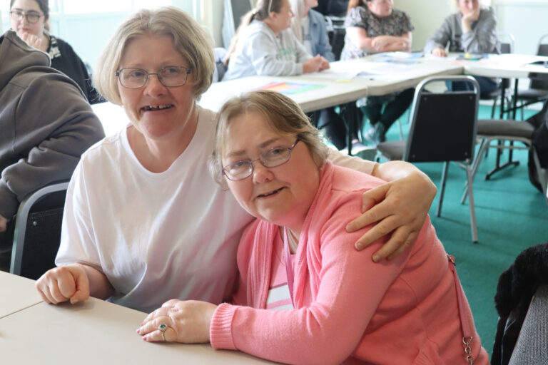
[[[11,29],[29,46],[48,53],[51,67],[76,81],[89,103],[104,101],[91,84],[88,68],[71,45],[52,36],[46,29],[49,21],[49,0],[10,0],[9,16]]]

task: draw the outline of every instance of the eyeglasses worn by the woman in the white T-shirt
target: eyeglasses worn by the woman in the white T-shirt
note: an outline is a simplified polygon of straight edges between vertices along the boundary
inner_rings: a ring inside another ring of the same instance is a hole
[[[156,75],[166,88],[176,88],[186,83],[189,73],[191,70],[183,66],[166,66],[158,72],[148,72],[143,68],[121,68],[115,75],[124,88],[142,88],[151,75]]]

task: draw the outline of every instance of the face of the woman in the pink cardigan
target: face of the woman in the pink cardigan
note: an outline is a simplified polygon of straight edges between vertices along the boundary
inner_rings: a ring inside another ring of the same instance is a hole
[[[223,166],[255,160],[271,148],[290,147],[296,139],[294,135],[282,135],[270,128],[261,113],[247,111],[228,122]],[[265,168],[260,161],[255,161],[253,168],[248,178],[226,180],[236,200],[251,215],[300,232],[320,181],[318,166],[308,146],[297,143],[283,165]]]

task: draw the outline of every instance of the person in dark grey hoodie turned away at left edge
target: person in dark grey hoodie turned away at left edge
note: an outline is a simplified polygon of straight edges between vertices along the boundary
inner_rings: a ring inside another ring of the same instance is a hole
[[[105,136],[76,82],[50,63],[14,31],[0,36],[0,269],[19,202],[70,179],[83,151]]]

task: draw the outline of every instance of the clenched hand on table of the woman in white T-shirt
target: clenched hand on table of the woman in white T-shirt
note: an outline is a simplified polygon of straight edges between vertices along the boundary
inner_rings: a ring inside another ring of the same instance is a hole
[[[36,281],[36,289],[46,303],[76,304],[89,298],[89,279],[83,265],[71,264],[48,270]]]

